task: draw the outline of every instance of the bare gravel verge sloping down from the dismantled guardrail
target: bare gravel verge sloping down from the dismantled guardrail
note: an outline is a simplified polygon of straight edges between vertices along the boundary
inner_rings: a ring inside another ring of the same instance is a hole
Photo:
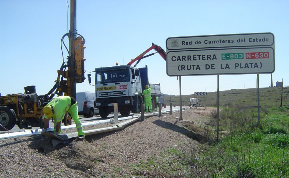
[[[123,130],[87,136],[52,146],[52,140],[41,135],[0,140],[0,177],[173,177],[141,172],[131,167],[160,157],[168,149],[190,153],[200,150],[196,133],[187,130],[188,123],[200,126],[208,122],[214,108],[188,109],[173,115],[153,116],[135,122]],[[84,129],[95,126],[84,127]],[[99,126],[98,126],[99,127]],[[75,131],[65,130],[64,132]],[[178,176],[174,176],[178,177]],[[180,176],[181,177],[181,176]]]

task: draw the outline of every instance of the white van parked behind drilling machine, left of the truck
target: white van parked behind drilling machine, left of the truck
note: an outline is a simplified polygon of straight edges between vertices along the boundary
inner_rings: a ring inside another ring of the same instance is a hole
[[[93,117],[93,115],[99,114],[98,109],[94,108],[93,104],[94,100],[95,100],[94,92],[76,93],[78,115],[83,115],[84,117]]]

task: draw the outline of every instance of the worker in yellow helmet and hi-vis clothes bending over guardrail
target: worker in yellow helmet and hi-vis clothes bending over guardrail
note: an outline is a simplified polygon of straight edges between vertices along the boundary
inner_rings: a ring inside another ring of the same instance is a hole
[[[78,140],[83,140],[85,133],[83,132],[82,124],[78,116],[77,102],[70,96],[58,96],[54,100],[50,101],[44,108],[45,114],[44,129],[42,132],[46,132],[49,126],[49,119],[54,121],[54,134],[61,133],[61,121],[64,119],[66,112],[69,112],[73,121],[75,122]]]

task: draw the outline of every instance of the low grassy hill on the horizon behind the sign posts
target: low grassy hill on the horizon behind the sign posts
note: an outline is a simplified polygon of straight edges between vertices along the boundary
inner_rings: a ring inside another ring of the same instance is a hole
[[[259,100],[261,107],[280,106],[281,104],[281,87],[259,88]],[[201,105],[216,106],[217,92],[208,92],[205,96],[191,95],[182,96],[182,105],[188,106],[190,98],[198,98]],[[289,106],[289,88],[283,88],[282,105]],[[165,95],[164,100],[166,105],[169,105],[169,100],[175,101],[173,104],[180,105],[179,95]],[[257,88],[249,89],[232,89],[219,92],[219,104],[221,105],[247,105],[257,106]]]

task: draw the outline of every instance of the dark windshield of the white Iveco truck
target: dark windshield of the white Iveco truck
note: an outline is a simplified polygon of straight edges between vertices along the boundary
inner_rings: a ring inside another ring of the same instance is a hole
[[[96,71],[96,83],[129,82],[129,69]]]

